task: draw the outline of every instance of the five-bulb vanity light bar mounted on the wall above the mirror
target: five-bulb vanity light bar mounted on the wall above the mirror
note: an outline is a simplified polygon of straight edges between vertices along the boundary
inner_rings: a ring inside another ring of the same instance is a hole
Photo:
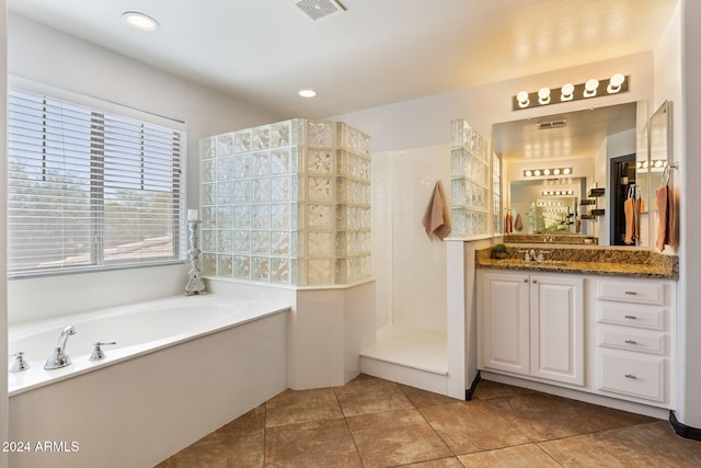
[[[581,84],[565,83],[562,88],[541,88],[533,92],[520,91],[512,99],[512,107],[514,111],[519,111],[521,109],[628,92],[629,79],[628,75],[616,73],[608,80],[591,78]]]

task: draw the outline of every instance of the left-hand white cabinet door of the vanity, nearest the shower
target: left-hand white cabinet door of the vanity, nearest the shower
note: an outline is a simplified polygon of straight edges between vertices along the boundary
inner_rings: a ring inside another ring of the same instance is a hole
[[[480,366],[528,375],[528,275],[483,272]]]

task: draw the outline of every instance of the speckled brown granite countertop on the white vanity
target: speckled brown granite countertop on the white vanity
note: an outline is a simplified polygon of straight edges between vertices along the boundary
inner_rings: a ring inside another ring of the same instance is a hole
[[[616,247],[507,244],[506,259],[492,259],[492,248],[475,252],[481,269],[526,270],[586,275],[679,279],[679,258],[650,250]],[[543,252],[544,261],[524,261],[524,250]]]

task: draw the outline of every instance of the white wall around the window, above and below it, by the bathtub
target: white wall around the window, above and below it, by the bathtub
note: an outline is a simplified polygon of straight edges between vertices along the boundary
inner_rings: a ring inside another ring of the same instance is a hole
[[[8,70],[21,78],[184,121],[187,206],[199,202],[199,138],[280,119],[16,14],[8,20]],[[180,294],[186,281],[187,265],[13,279],[8,284],[10,321]]]

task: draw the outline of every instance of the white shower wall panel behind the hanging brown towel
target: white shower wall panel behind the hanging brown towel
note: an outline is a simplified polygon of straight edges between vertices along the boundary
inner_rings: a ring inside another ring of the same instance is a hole
[[[422,226],[438,180],[450,204],[448,144],[372,153],[378,327],[446,331],[446,244]]]

